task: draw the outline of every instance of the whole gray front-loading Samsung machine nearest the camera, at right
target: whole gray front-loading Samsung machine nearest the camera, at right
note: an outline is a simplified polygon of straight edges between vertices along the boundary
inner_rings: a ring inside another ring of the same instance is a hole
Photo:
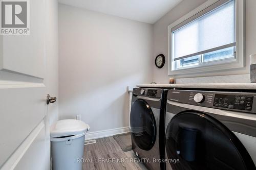
[[[256,93],[169,90],[166,169],[253,170]]]

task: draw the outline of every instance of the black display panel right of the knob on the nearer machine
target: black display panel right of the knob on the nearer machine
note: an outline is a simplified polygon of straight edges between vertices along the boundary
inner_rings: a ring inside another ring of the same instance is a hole
[[[216,94],[214,106],[238,110],[251,110],[253,103],[252,95]]]

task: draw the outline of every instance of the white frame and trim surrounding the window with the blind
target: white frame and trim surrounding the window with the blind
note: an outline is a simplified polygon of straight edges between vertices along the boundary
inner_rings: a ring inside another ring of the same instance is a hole
[[[225,60],[225,62],[222,62],[222,60],[214,61],[214,65],[209,62],[205,62],[200,64],[200,66],[192,66],[192,67],[186,67],[178,70],[172,70],[172,62],[173,59],[173,49],[172,49],[172,28],[179,25],[181,22],[189,19],[190,17],[196,15],[200,11],[206,9],[207,7],[211,6],[212,4],[215,4],[216,2],[221,0],[208,0],[198,8],[194,9],[193,11],[189,12],[188,14],[184,15],[177,21],[173,22],[171,25],[168,26],[168,75],[169,76],[175,76],[179,75],[179,77],[182,77],[182,75],[190,75],[193,74],[194,76],[197,74],[202,73],[209,73],[210,76],[215,76],[216,72],[218,71],[227,71],[232,70],[235,68],[243,68],[245,67],[245,46],[244,46],[244,37],[245,37],[245,24],[244,24],[244,8],[245,8],[245,2],[244,0],[234,0],[235,1],[235,10],[236,10],[236,57],[235,59]],[[187,77],[187,76],[184,76]]]

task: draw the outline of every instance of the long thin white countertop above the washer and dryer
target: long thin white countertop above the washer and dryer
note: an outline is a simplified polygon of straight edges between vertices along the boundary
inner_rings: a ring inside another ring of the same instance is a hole
[[[256,90],[256,83],[138,84],[138,87]]]

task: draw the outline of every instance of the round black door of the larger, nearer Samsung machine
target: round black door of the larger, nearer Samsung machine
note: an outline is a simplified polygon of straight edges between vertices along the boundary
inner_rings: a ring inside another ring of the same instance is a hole
[[[167,159],[173,170],[256,169],[240,140],[210,115],[186,111],[177,114],[166,128]]]

